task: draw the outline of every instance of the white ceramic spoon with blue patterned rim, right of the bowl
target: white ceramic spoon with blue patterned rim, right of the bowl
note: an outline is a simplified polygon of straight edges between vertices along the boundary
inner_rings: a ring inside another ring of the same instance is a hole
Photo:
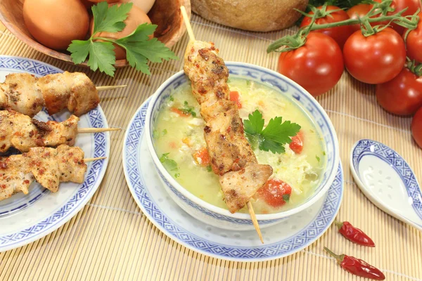
[[[409,164],[387,145],[362,139],[350,152],[359,188],[378,208],[422,231],[422,195]]]

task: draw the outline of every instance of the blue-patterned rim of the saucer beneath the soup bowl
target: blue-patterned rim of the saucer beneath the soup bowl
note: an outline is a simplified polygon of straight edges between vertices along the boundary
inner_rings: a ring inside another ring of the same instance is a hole
[[[146,161],[140,147],[143,136],[145,135],[146,111],[149,100],[147,100],[139,108],[134,115],[132,121],[124,137],[123,144],[123,165],[124,175],[126,176],[129,190],[131,190],[136,203],[141,207],[143,214],[157,226],[163,233],[183,244],[185,247],[198,251],[202,254],[214,256],[220,259],[231,261],[265,261],[269,259],[277,259],[307,247],[320,237],[326,229],[331,225],[340,208],[343,198],[343,169],[338,166],[335,179],[329,188],[324,203],[318,211],[311,223],[305,228],[298,229],[297,233],[288,239],[282,239],[277,242],[262,244],[258,247],[242,247],[227,245],[223,242],[212,242],[207,240],[206,235],[200,237],[194,234],[190,229],[183,228],[175,221],[173,216],[167,216],[162,208],[162,203],[154,200],[150,191],[154,186],[146,186],[146,178],[143,173],[153,176],[148,171],[141,171],[140,162]],[[174,210],[172,211],[181,211]],[[302,213],[301,213],[302,214]],[[303,215],[305,216],[305,215]],[[285,226],[280,226],[282,230]]]

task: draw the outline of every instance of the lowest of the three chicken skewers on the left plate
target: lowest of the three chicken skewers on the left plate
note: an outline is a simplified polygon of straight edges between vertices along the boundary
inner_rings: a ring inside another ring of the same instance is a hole
[[[60,182],[83,183],[88,160],[81,148],[59,145],[58,148],[31,148],[22,155],[0,157],[0,201],[15,193],[27,194],[37,181],[51,192],[57,192]]]

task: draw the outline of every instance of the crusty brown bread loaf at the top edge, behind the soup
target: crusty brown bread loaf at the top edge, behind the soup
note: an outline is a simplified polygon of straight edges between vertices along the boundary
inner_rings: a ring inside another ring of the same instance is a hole
[[[191,0],[192,11],[241,30],[267,32],[292,26],[308,0]]]

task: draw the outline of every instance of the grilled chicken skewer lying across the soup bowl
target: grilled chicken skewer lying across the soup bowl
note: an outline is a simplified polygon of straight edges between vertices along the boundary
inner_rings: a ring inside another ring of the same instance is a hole
[[[267,182],[272,168],[257,163],[244,136],[237,105],[229,100],[229,70],[219,57],[219,51],[212,43],[196,41],[184,6],[181,6],[181,14],[191,38],[186,47],[184,72],[191,80],[193,96],[206,122],[204,137],[212,170],[219,176],[229,211],[235,213],[247,205],[252,223],[264,243],[249,200]]]

